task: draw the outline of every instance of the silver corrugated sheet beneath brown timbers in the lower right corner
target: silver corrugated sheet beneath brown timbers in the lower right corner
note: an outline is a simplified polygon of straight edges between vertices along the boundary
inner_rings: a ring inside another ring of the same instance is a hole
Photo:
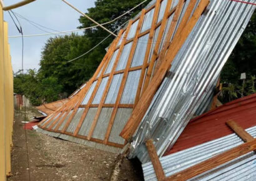
[[[256,137],[256,127],[247,129],[247,132]],[[230,134],[220,139],[167,155],[160,158],[160,162],[165,175],[169,177],[243,143],[236,134]],[[224,165],[220,165],[220,167],[216,167],[209,172],[198,175],[191,180],[255,180],[255,164],[256,155],[254,152],[251,152]],[[145,180],[157,180],[151,162],[143,164],[142,167]]]

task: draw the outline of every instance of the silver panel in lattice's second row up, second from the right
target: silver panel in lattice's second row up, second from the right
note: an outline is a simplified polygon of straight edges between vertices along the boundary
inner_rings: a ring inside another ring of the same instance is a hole
[[[111,82],[111,87],[109,88],[109,92],[107,92],[105,104],[115,104],[119,88],[122,82],[122,76],[124,76],[124,74],[114,75]]]

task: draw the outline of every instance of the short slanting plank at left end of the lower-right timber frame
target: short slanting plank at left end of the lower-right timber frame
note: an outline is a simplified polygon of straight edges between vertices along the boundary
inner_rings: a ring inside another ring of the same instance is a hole
[[[161,162],[157,155],[157,151],[155,150],[153,140],[152,139],[147,140],[145,142],[145,145],[147,147],[147,152],[149,153],[150,160],[154,167],[155,175],[157,175],[157,180],[159,180],[159,181],[164,180],[165,179],[164,169],[162,168]]]

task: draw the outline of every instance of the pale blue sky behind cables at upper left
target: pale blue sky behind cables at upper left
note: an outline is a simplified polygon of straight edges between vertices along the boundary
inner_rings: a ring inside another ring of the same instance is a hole
[[[5,0],[4,4],[7,6],[19,1],[21,0]],[[87,8],[94,7],[94,1],[96,0],[68,1],[83,12],[87,12]],[[13,11],[42,26],[50,27],[57,31],[68,31],[79,26],[78,19],[80,14],[61,0],[37,0],[26,6],[13,9]],[[4,12],[4,20],[9,24],[9,36],[19,35],[16,26],[7,12]],[[24,19],[19,19],[19,21],[21,22],[24,35],[46,33],[32,26]],[[24,69],[39,68],[42,47],[49,37],[51,36],[24,37]],[[9,38],[9,44],[11,46],[12,69],[14,72],[17,72],[21,69],[21,38]]]

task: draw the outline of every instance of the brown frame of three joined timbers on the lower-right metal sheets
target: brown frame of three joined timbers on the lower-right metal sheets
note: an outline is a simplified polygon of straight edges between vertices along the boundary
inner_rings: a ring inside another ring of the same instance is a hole
[[[170,177],[165,177],[164,170],[160,163],[159,157],[155,150],[153,140],[147,140],[145,145],[149,152],[149,157],[152,162],[152,165],[155,170],[155,175],[157,176],[157,180],[188,180],[193,177],[203,174],[208,170],[214,169],[222,164],[225,164],[231,160],[234,160],[242,155],[248,154],[249,152],[256,151],[256,139],[252,137],[248,132],[246,132],[242,127],[240,127],[233,120],[229,120],[226,124],[232,129],[235,134],[237,134],[242,140],[244,140],[245,144],[239,145],[234,149],[227,150],[222,154],[216,155],[204,162],[200,162],[197,165],[189,167],[188,169],[182,170],[177,174],[171,175]]]

